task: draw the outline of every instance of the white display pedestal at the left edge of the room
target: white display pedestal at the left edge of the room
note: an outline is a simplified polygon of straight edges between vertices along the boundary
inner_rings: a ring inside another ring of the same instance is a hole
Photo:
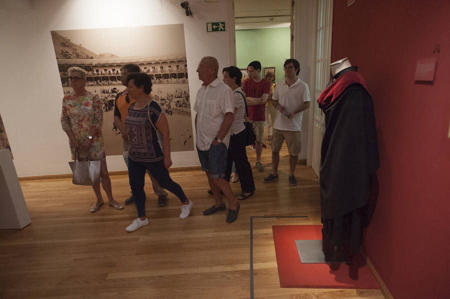
[[[0,149],[0,229],[22,229],[30,223],[11,152]]]

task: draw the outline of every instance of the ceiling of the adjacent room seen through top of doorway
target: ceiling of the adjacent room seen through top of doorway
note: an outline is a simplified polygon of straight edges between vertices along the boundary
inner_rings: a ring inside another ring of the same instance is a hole
[[[234,0],[236,30],[290,26],[291,0]]]

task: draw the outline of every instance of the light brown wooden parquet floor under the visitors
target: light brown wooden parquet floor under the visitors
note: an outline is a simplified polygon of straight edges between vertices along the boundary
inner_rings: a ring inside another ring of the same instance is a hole
[[[247,152],[254,166],[254,151]],[[253,168],[256,192],[240,202],[233,224],[225,223],[226,211],[202,215],[213,199],[200,170],[171,172],[194,203],[185,220],[178,218],[180,204],[173,194],[167,206],[157,207],[147,179],[150,223],[133,233],[125,227],[136,218],[134,205],[118,211],[105,203],[90,213],[90,187],[74,186],[71,179],[21,181],[31,224],[0,230],[0,298],[250,298],[251,216],[307,216],[253,218],[254,298],[383,298],[379,290],[279,287],[271,226],[320,224],[319,182],[310,167],[297,165],[298,185],[288,185],[285,146],[279,180],[261,182],[271,169],[270,154],[270,147],[263,150],[263,172]],[[115,199],[123,203],[128,177],[112,175],[111,180]],[[238,195],[239,183],[231,186]]]

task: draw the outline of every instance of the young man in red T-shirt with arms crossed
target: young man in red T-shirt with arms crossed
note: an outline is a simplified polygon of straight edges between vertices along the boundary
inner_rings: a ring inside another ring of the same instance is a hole
[[[245,92],[248,105],[248,119],[253,122],[253,130],[256,135],[256,167],[263,171],[261,164],[262,136],[265,124],[265,102],[270,93],[270,83],[261,77],[261,63],[252,61],[247,66],[249,78],[242,82],[242,90]]]

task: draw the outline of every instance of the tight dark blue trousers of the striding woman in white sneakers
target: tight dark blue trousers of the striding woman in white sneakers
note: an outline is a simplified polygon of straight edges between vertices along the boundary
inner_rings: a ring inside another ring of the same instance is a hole
[[[145,216],[145,172],[148,171],[159,185],[173,193],[183,203],[187,200],[181,187],[172,181],[164,163],[157,162],[138,162],[128,158],[128,178],[131,192],[137,208],[137,217]]]

